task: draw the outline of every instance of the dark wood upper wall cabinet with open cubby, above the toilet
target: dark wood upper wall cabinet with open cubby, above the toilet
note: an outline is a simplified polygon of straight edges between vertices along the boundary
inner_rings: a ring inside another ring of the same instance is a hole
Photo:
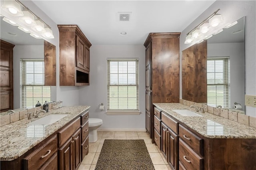
[[[60,86],[89,85],[92,44],[77,25],[58,25],[60,32]]]

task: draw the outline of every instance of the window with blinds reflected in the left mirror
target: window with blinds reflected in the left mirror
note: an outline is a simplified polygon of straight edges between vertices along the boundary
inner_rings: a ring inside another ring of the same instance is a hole
[[[44,86],[44,60],[20,60],[20,107],[33,108],[37,101],[51,101],[51,87]]]

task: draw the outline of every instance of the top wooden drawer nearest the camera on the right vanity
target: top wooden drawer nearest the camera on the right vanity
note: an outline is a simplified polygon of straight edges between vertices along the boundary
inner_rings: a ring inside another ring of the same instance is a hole
[[[185,141],[196,153],[203,154],[203,139],[196,136],[194,133],[190,132],[187,128],[179,125],[179,136]]]

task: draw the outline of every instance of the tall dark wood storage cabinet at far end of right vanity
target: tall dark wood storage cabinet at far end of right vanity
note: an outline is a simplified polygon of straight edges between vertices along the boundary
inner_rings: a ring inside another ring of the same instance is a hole
[[[152,103],[179,103],[180,99],[180,32],[150,33],[144,46],[146,47],[146,130],[154,142]]]

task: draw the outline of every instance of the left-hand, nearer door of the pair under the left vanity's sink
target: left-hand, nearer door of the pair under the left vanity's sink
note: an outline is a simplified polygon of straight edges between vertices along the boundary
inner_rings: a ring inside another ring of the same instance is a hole
[[[60,170],[72,170],[72,141],[70,138],[60,149],[59,149],[59,167]]]

